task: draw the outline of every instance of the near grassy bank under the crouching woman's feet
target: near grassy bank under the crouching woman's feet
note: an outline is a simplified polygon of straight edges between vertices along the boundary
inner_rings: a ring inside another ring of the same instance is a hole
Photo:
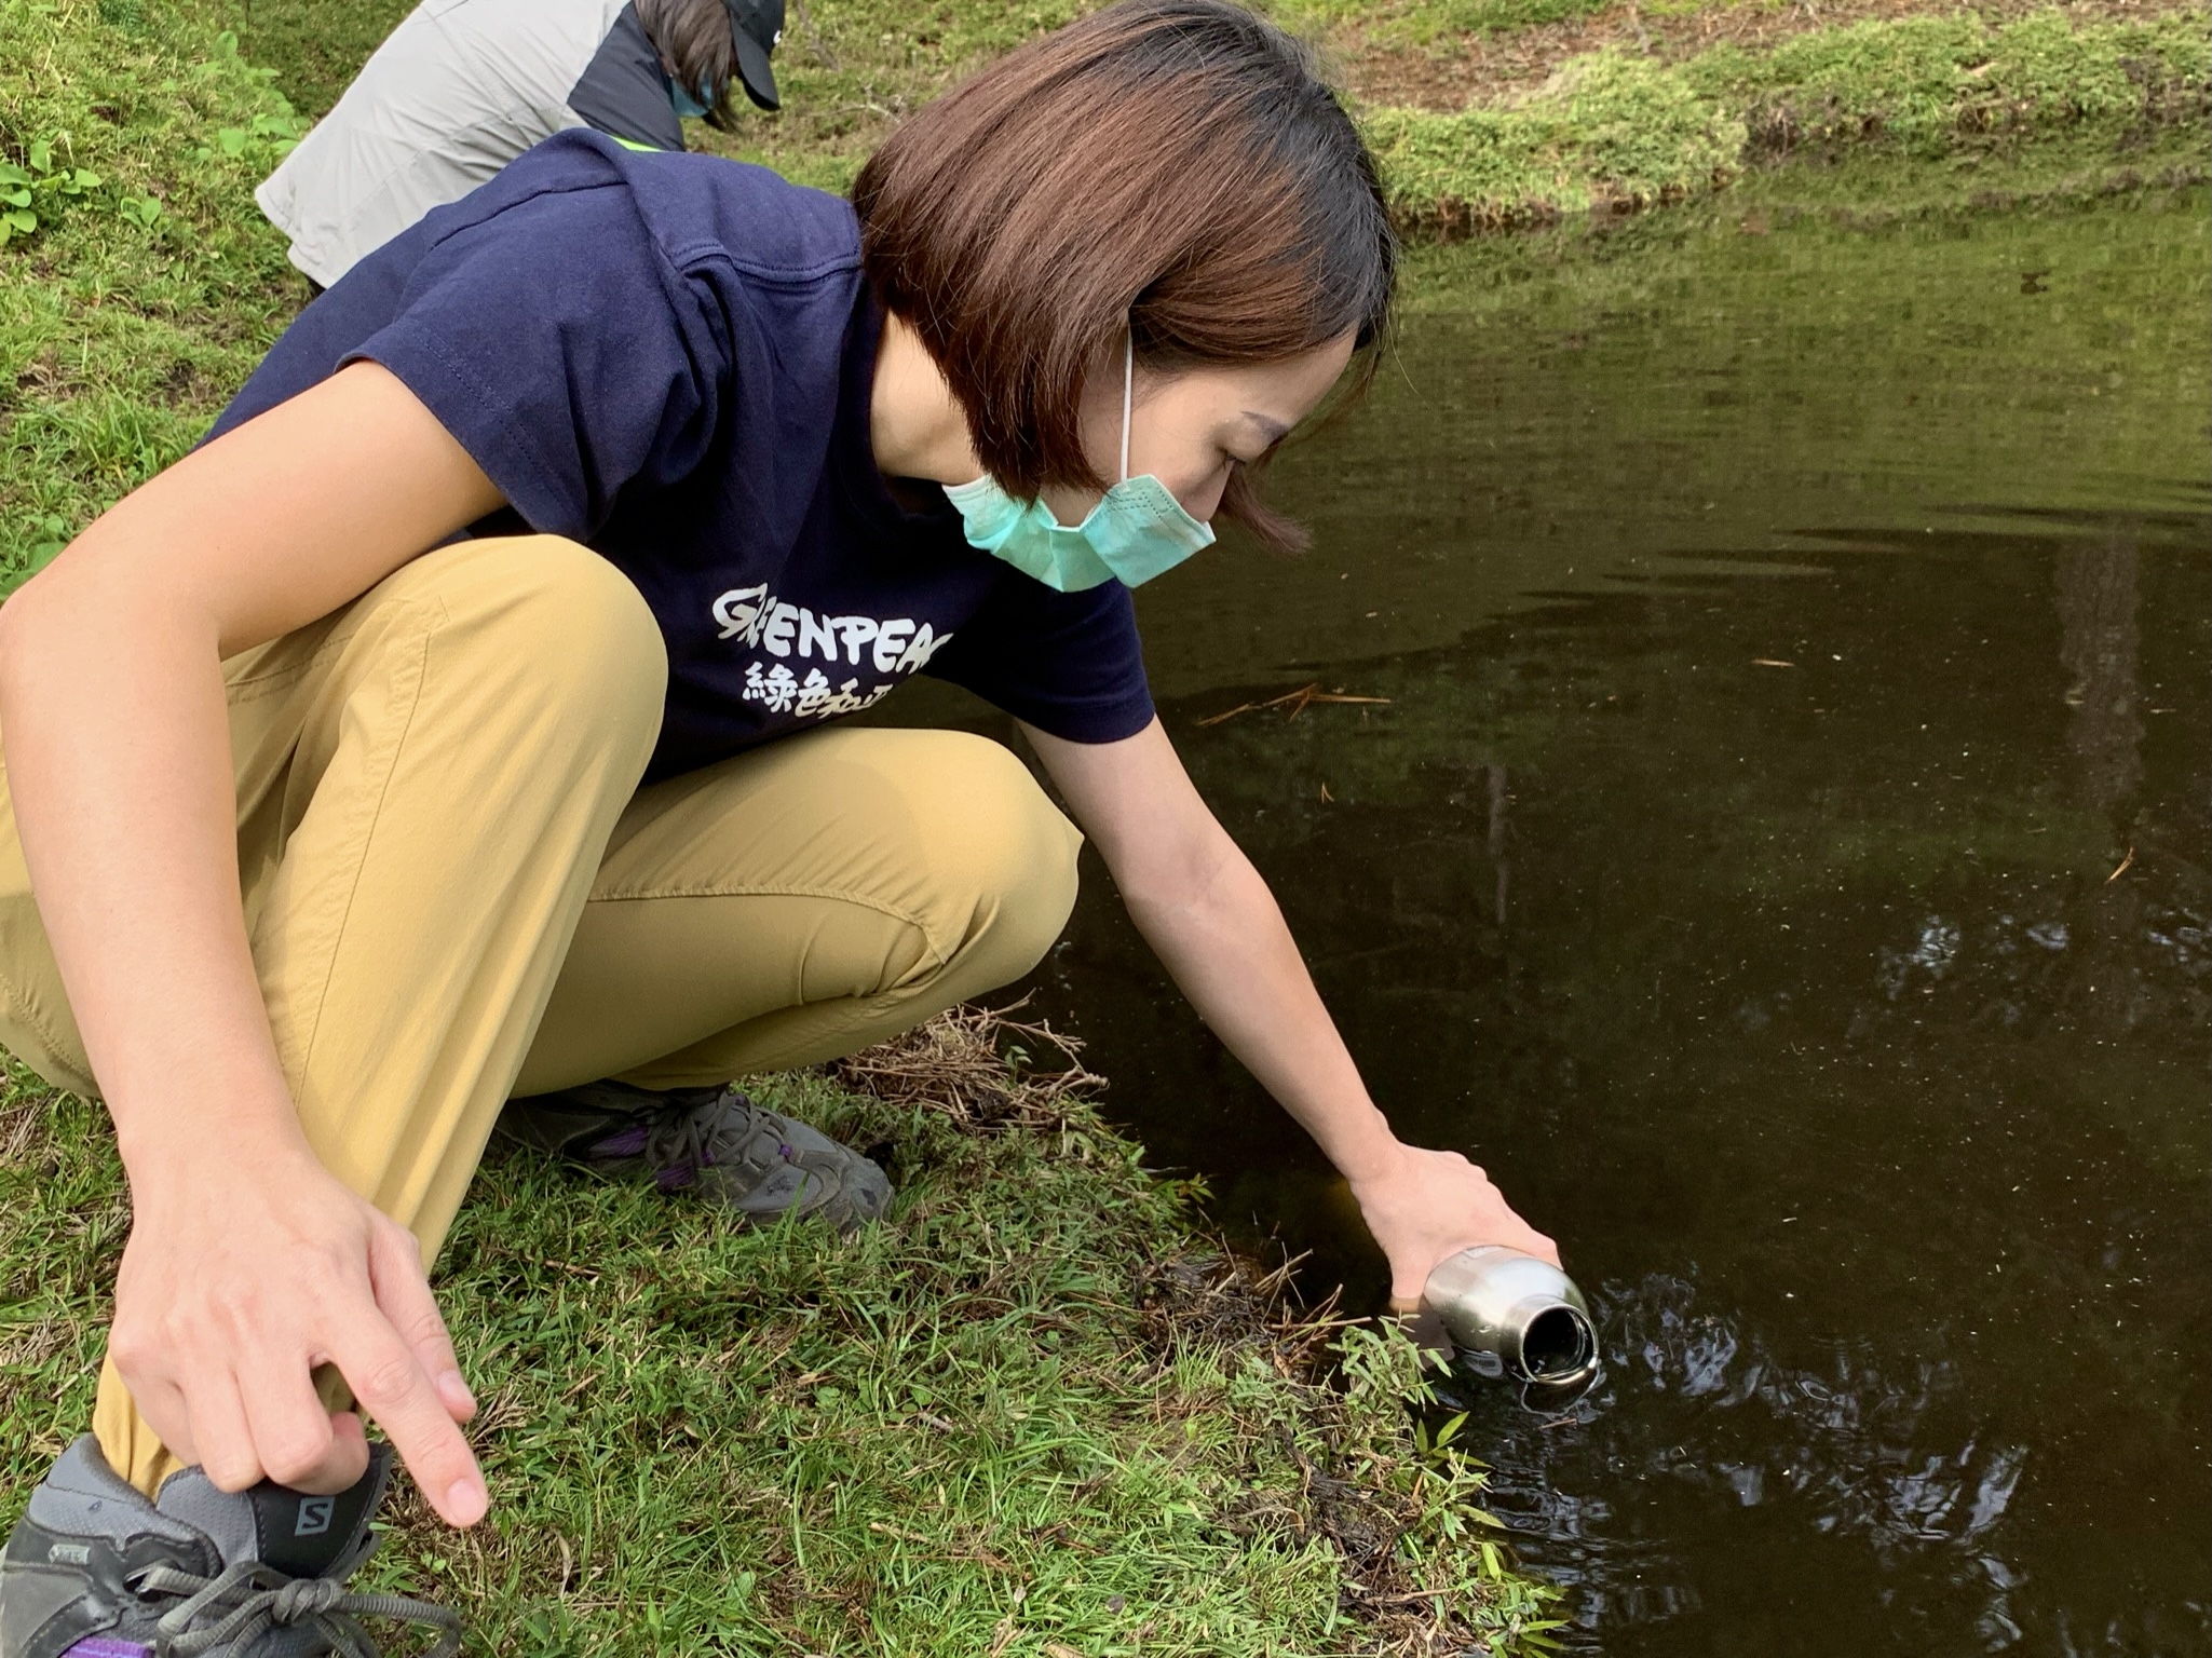
[[[1405,1344],[1352,1333],[1314,1382],[1329,1333],[1206,1245],[1190,1192],[1009,1081],[940,1021],[768,1083],[887,1147],[894,1222],[854,1242],[489,1165],[440,1284],[493,1514],[456,1539],[409,1497],[372,1576],[502,1656],[1526,1647],[1542,1596],[1418,1452]],[[22,1072],[0,1154],[11,1519],[91,1410],[124,1192],[95,1108]]]

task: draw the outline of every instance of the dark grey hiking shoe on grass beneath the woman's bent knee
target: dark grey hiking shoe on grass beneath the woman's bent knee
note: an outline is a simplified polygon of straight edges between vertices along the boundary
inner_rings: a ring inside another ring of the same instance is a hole
[[[745,1220],[785,1211],[858,1231],[891,1207],[891,1183],[827,1134],[763,1112],[734,1088],[586,1083],[507,1101],[500,1134],[661,1192],[697,1192]]]

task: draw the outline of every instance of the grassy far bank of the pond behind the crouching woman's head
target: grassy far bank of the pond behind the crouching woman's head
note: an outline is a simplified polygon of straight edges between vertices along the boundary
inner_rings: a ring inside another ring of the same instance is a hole
[[[914,29],[883,4],[816,4],[783,51],[787,113],[706,141],[843,190],[900,115],[1075,11],[969,4]],[[2148,128],[2201,124],[2212,108],[2212,38],[2201,7],[2146,18],[1942,9],[1774,40],[1723,29],[1719,44],[1694,46],[1697,35],[1688,35],[1674,51],[1652,40],[1632,4],[1577,7],[1590,20],[1624,11],[1637,33],[1568,35],[1568,44],[1604,44],[1540,55],[1535,82],[1526,82],[1528,57],[1498,55],[1493,75],[1469,73],[1462,60],[1486,42],[1557,42],[1546,33],[1557,13],[1544,4],[1522,15],[1462,0],[1380,9],[1285,0],[1274,11],[1323,42],[1376,144],[1391,203],[1416,232],[1677,201],[1803,150],[1874,144],[1929,157],[2068,128],[2095,128],[2126,146]],[[1674,15],[1734,22],[1774,11],[1686,2]],[[1438,75],[1407,73],[1416,46]],[[1460,71],[1444,75],[1453,64]]]

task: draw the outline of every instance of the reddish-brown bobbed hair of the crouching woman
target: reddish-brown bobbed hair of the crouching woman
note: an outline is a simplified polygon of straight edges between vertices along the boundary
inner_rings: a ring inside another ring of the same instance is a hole
[[[1228,0],[1121,0],[907,119],[852,188],[867,279],[936,358],[1018,497],[1104,489],[1084,378],[1270,363],[1389,323],[1398,243],[1374,159],[1312,53]],[[1301,531],[1245,466],[1221,500]]]

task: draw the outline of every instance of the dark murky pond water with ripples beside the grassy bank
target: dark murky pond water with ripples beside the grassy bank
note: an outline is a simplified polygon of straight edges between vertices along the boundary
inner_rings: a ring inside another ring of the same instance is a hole
[[[2205,197],[1427,259],[1314,550],[1141,610],[1378,1101],[1597,1304],[1568,1417],[1475,1399],[1520,1559],[1588,1651],[2203,1654]],[[1389,701],[1203,723],[1307,683]],[[1042,1004],[1371,1311],[1091,873]]]

